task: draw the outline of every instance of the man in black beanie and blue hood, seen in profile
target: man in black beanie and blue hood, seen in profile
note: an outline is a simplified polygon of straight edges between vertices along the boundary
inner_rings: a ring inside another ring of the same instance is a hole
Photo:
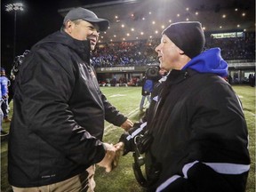
[[[162,35],[156,52],[160,68],[170,73],[144,136],[131,136],[135,154],[146,151],[147,177],[139,156],[133,164],[136,179],[148,191],[245,191],[248,132],[241,102],[222,78],[227,62],[219,48],[203,52],[199,22],[173,23]]]

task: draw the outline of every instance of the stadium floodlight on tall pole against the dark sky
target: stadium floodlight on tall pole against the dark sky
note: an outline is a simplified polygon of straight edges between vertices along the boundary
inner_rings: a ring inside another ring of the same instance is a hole
[[[17,20],[17,12],[23,12],[24,6],[22,3],[14,3],[14,4],[6,4],[5,5],[6,12],[14,12],[14,29],[13,29],[13,60],[15,59],[16,54],[16,20]]]

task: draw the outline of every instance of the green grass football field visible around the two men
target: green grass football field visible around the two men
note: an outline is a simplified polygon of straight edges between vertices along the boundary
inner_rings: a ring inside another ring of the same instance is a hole
[[[247,181],[246,192],[255,192],[255,88],[250,86],[233,86],[244,106],[244,115],[248,125],[250,138],[251,170]],[[141,87],[101,87],[108,100],[133,122],[138,122],[141,114],[139,110]],[[12,109],[12,108],[11,108]],[[12,111],[11,111],[12,115]],[[4,123],[4,131],[8,131],[9,124]],[[112,124],[105,124],[104,141],[116,143],[123,133],[123,129]],[[12,191],[7,182],[7,143],[1,142],[1,191]],[[142,192],[132,172],[132,154],[122,156],[118,167],[112,172],[105,172],[102,168],[96,170],[96,192]]]

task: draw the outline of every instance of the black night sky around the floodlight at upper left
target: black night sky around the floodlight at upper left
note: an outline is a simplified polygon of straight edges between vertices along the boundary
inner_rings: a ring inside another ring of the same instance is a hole
[[[106,2],[104,0],[2,0],[1,1],[1,66],[7,71],[12,66],[14,13],[5,12],[5,4],[24,4],[24,11],[17,12],[16,54],[22,54],[33,44],[60,29],[63,17],[58,9],[85,4]],[[11,64],[10,64],[11,63]]]

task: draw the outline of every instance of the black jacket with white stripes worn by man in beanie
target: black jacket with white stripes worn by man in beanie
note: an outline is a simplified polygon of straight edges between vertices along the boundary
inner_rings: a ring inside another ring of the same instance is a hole
[[[248,132],[236,93],[220,76],[172,70],[147,129],[155,191],[244,191]],[[153,178],[153,179],[152,179]]]

